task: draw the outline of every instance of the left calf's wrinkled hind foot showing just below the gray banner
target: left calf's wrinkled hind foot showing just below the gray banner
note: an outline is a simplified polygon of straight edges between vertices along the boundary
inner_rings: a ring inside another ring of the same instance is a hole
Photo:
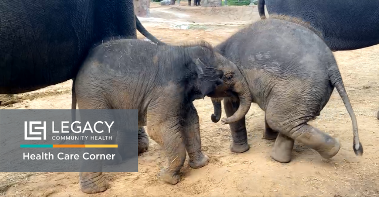
[[[92,174],[87,174],[92,173]],[[100,173],[100,175],[99,175]],[[99,193],[109,188],[108,181],[104,178],[101,172],[81,172],[82,175],[87,174],[86,179],[80,178],[80,189],[84,193]]]

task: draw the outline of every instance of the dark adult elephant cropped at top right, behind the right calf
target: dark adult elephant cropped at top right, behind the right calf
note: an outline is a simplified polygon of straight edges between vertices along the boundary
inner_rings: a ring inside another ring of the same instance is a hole
[[[258,0],[258,12],[307,21],[319,31],[331,51],[348,51],[379,43],[379,1]],[[379,119],[379,111],[377,112]]]

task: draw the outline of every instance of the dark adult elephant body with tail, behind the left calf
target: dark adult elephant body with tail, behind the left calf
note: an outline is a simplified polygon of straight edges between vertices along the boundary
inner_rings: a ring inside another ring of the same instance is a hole
[[[23,93],[75,77],[88,51],[109,37],[136,38],[132,0],[0,3],[0,94]]]

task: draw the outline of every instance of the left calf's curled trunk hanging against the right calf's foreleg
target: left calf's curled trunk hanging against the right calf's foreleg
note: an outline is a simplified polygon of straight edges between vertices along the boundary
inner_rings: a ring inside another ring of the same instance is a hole
[[[239,121],[249,112],[252,102],[252,95],[250,93],[249,85],[245,78],[239,79],[238,81],[239,82],[237,82],[234,86],[234,91],[238,94],[240,99],[240,107],[232,116],[222,118],[221,124],[230,124]]]

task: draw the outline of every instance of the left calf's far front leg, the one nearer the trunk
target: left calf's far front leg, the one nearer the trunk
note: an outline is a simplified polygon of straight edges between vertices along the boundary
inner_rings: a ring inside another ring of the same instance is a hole
[[[209,158],[201,151],[200,125],[198,112],[191,103],[184,112],[184,144],[189,157],[191,168],[201,168],[208,164]]]

